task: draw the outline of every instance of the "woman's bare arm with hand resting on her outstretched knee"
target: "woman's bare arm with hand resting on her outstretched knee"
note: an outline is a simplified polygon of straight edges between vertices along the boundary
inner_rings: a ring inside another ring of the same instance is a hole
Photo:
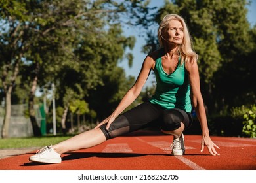
[[[108,116],[105,120],[103,120],[100,124],[98,124],[95,128],[100,127],[103,124],[107,124],[106,129],[109,129],[110,124],[116,119],[125,108],[127,108],[135,99],[139,96],[144,84],[146,83],[146,80],[148,79],[148,75],[150,75],[151,69],[153,69],[154,66],[154,59],[152,57],[147,56],[146,59],[144,59],[144,62],[142,64],[142,68],[140,69],[139,76],[137,77],[137,80],[135,81],[135,84],[131,87],[131,89],[125,94],[123,99],[121,99],[119,105],[117,106],[116,110]]]

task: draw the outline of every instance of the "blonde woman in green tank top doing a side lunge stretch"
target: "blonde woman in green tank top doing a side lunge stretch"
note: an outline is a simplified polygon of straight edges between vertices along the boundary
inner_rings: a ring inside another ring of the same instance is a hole
[[[165,16],[158,28],[158,39],[161,48],[146,56],[135,84],[108,118],[95,129],[75,135],[54,146],[42,148],[30,157],[30,161],[60,163],[60,154],[64,152],[96,146],[152,122],[158,123],[163,133],[173,135],[171,154],[183,155],[185,153],[183,131],[192,124],[192,105],[202,128],[201,151],[207,146],[210,154],[219,155],[215,150],[215,147],[219,147],[209,137],[200,92],[196,62],[198,56],[192,50],[184,19],[176,14]],[[154,71],[157,82],[154,96],[148,102],[121,114],[138,97],[151,70]]]

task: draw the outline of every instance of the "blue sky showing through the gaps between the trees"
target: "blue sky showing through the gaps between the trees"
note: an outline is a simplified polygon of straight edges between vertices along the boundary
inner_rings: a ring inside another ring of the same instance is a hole
[[[154,6],[161,6],[163,5],[164,0],[151,0],[150,5],[152,7]],[[256,24],[256,1],[252,0],[252,3],[248,8],[248,13],[247,13],[247,19],[249,21],[249,23],[251,24],[251,26]],[[157,31],[156,27],[156,31]],[[127,61],[122,61],[121,63],[119,63],[120,67],[123,67],[125,69],[125,73],[127,76],[131,75],[131,76],[135,76],[135,78],[137,78],[137,76],[139,75],[140,72],[140,68],[141,65],[146,57],[146,54],[141,52],[141,48],[142,46],[146,43],[144,41],[144,38],[139,37],[140,30],[133,28],[133,29],[125,29],[125,35],[126,36],[135,36],[136,37],[136,44],[135,47],[133,48],[133,50],[130,50],[130,52],[133,54],[133,67],[129,68],[128,66],[128,62]],[[154,76],[152,75],[152,73],[150,74],[150,76],[148,77],[148,80],[144,86],[144,88],[146,86],[152,86],[152,82],[154,81]]]

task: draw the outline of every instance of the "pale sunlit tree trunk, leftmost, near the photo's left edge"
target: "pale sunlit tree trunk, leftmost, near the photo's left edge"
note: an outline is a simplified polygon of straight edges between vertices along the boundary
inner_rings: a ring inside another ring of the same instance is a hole
[[[9,124],[11,119],[11,91],[12,87],[9,87],[8,92],[5,94],[5,117],[3,119],[3,127],[1,136],[3,139],[9,137]]]

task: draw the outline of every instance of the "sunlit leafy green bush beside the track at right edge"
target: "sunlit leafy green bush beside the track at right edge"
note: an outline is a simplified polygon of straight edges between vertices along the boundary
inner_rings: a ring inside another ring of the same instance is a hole
[[[251,105],[251,107],[234,107],[231,110],[233,118],[242,118],[243,120],[243,133],[248,137],[256,137],[256,105]]]

